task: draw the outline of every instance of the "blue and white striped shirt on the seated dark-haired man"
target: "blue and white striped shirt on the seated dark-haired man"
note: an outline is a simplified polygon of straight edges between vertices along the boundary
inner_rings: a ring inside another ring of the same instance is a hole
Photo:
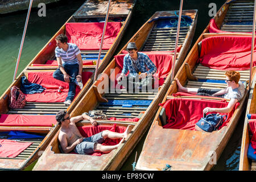
[[[68,43],[68,51],[65,52],[63,48],[56,47],[55,48],[55,56],[61,57],[62,64],[79,64],[79,60],[76,55],[78,55],[80,49],[76,46],[76,44]]]

